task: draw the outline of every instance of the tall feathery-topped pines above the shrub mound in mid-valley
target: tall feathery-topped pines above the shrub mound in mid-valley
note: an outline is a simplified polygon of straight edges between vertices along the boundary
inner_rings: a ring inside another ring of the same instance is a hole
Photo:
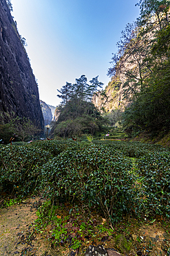
[[[59,122],[82,116],[84,113],[96,116],[96,108],[92,104],[92,97],[98,88],[103,86],[103,83],[98,81],[98,76],[92,78],[89,83],[87,84],[87,77],[81,75],[80,78],[76,78],[75,84],[66,82],[65,86],[57,90],[61,93],[57,96],[63,100],[59,106],[59,111],[61,111]]]

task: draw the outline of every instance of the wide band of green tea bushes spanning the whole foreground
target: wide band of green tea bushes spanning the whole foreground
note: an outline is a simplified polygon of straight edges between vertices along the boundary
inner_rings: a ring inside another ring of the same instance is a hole
[[[43,192],[93,207],[109,221],[170,212],[169,148],[142,143],[41,141],[0,147],[0,194]]]

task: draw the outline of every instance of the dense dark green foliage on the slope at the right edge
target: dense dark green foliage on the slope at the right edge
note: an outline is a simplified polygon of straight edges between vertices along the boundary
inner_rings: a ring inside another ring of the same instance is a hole
[[[170,127],[170,25],[159,31],[151,48],[152,73],[145,89],[125,110],[125,125],[151,132]]]

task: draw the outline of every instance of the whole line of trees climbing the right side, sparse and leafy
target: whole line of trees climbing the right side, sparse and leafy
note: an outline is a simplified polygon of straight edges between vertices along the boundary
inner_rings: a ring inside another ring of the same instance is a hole
[[[134,131],[169,130],[170,24],[167,0],[140,0],[140,17],[127,24],[108,75],[121,82],[131,102],[123,115]]]

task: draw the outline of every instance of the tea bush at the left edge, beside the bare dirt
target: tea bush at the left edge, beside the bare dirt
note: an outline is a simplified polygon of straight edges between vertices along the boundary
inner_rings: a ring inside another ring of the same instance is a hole
[[[1,146],[0,191],[30,194],[41,183],[40,166],[52,158],[52,154],[31,145]]]

